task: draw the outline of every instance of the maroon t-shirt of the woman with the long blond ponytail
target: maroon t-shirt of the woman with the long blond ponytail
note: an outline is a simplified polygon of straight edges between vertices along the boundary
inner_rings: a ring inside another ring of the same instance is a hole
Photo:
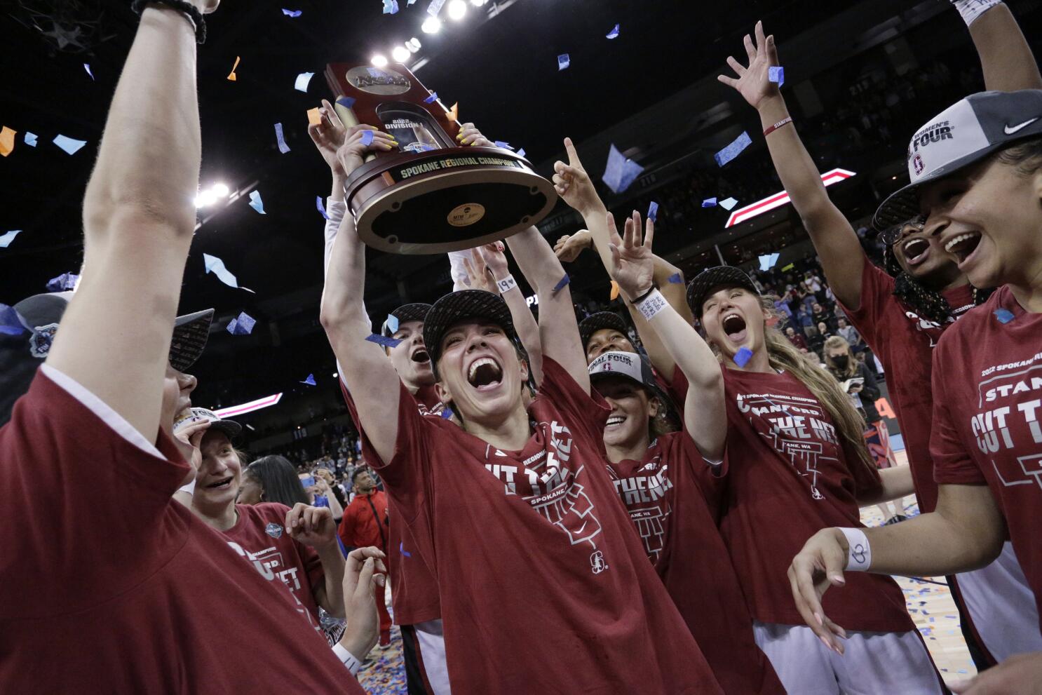
[[[752,617],[802,625],[787,575],[792,559],[822,528],[864,527],[858,497],[878,492],[879,473],[848,455],[828,411],[796,377],[720,369],[726,455],[706,494],[718,496],[720,533]],[[672,386],[687,396],[679,370]],[[845,576],[847,586],[822,599],[838,624],[879,632],[915,628],[904,596],[889,576]]]

